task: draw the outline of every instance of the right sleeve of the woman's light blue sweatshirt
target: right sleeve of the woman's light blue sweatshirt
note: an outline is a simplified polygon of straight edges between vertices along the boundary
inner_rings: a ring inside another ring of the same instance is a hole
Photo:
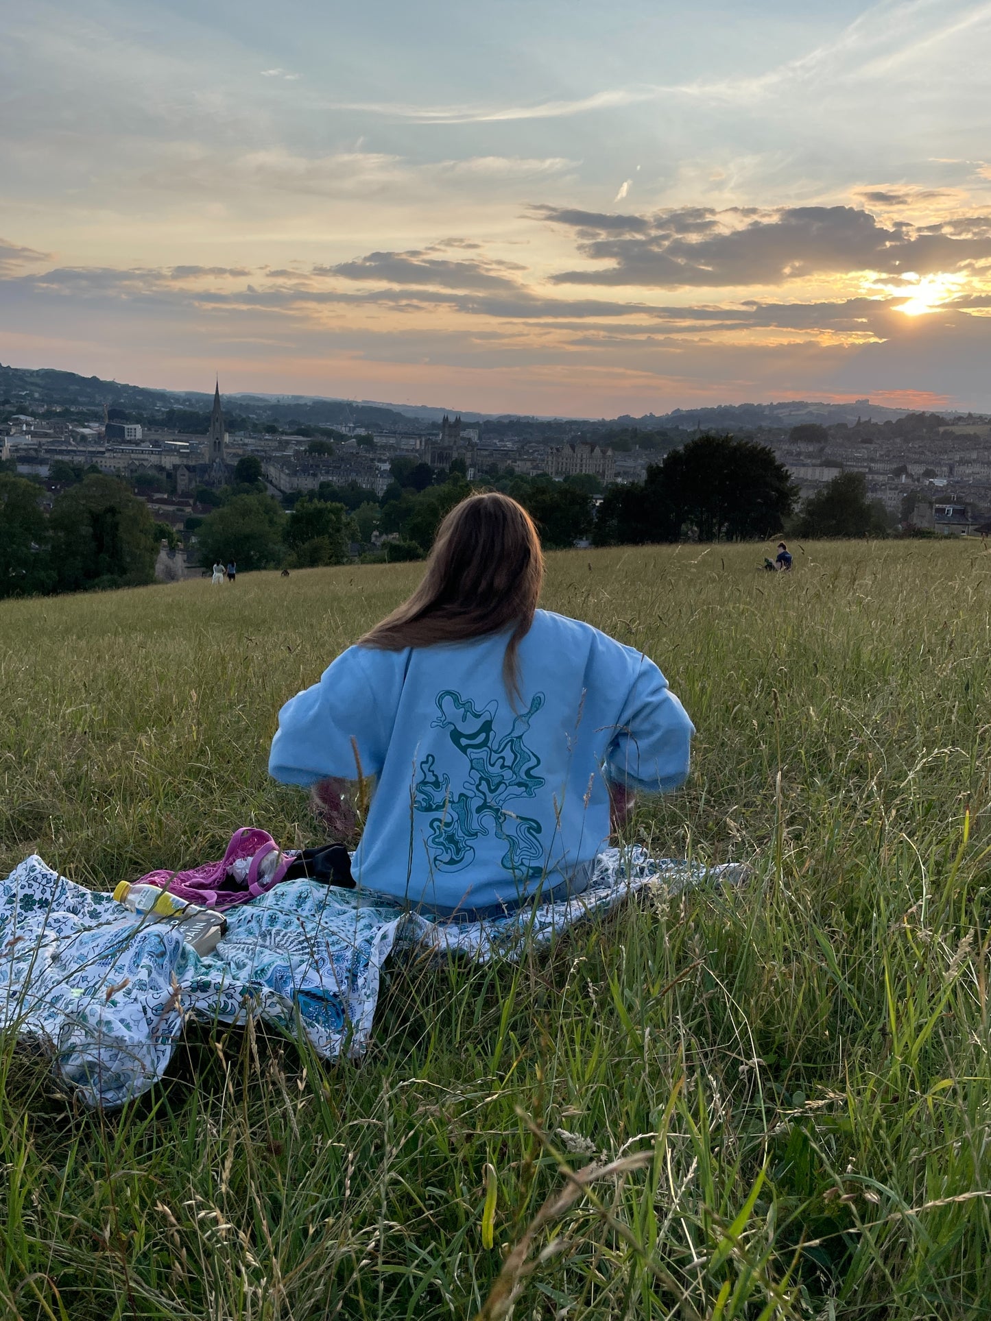
[[[695,727],[653,660],[630,649],[632,679],[606,757],[606,778],[658,793],[688,777]]]

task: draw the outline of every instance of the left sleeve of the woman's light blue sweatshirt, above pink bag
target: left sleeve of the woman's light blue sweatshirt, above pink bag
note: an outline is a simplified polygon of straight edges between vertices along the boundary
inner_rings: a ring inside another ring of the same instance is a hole
[[[379,668],[395,670],[395,653],[377,653],[375,659]],[[383,678],[388,680],[388,672]],[[357,779],[357,744],[362,774],[378,775],[388,745],[385,712],[390,696],[375,691],[359,647],[342,651],[318,683],[297,692],[279,712],[268,774],[285,785],[312,785],[328,775]]]

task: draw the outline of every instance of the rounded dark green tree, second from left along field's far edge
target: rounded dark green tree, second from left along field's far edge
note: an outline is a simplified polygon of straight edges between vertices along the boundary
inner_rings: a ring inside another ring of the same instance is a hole
[[[55,497],[49,518],[59,592],[136,587],[155,577],[159,544],[148,506],[114,477],[91,473]]]

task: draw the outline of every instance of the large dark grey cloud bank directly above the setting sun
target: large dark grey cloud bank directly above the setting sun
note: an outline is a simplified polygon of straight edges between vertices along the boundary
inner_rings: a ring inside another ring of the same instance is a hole
[[[577,250],[591,262],[610,263],[562,271],[551,277],[556,284],[740,288],[840,272],[926,275],[991,259],[986,217],[914,227],[879,225],[852,206],[682,207],[636,218],[539,207],[536,214],[575,229]]]

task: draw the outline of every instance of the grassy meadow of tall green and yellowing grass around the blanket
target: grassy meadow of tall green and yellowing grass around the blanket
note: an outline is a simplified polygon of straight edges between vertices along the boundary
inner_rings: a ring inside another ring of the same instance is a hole
[[[544,593],[698,725],[630,832],[745,886],[396,968],[361,1065],[190,1029],[99,1116],[5,1045],[0,1313],[497,1317],[515,1271],[517,1321],[988,1317],[991,555],[761,556],[569,552]],[[418,573],[0,605],[0,867],[108,888],[239,824],[314,841],[275,713]]]

